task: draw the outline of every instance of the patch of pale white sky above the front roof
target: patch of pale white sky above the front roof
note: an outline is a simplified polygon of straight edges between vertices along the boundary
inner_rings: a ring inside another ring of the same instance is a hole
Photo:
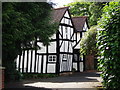
[[[73,2],[73,0],[48,0],[48,1],[56,3],[57,6],[55,6],[55,8],[63,7],[64,5]]]

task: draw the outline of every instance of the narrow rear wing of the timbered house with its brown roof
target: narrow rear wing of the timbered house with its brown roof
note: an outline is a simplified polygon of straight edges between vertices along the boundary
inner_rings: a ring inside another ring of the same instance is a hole
[[[73,46],[73,68],[78,72],[83,72],[85,70],[85,57],[80,57],[80,41],[81,38],[85,35],[85,32],[88,31],[89,25],[86,16],[72,17],[75,32],[75,42]]]

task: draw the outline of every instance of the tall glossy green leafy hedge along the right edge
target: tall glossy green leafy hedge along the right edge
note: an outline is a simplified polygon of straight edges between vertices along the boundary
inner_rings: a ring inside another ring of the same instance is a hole
[[[98,33],[99,69],[107,89],[120,88],[120,2],[110,2],[103,8]]]

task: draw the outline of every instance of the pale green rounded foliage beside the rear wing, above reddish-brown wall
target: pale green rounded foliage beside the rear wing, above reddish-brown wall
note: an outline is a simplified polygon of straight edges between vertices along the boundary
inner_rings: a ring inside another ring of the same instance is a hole
[[[96,47],[97,27],[91,27],[83,36],[80,42],[80,53],[84,55],[94,55],[97,52]]]

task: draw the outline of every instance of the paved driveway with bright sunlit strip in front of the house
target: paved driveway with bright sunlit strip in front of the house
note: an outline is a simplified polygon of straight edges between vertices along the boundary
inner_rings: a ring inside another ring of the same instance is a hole
[[[47,79],[26,80],[9,83],[7,88],[21,88],[28,90],[96,90],[101,86],[101,78],[96,72],[74,73]]]

